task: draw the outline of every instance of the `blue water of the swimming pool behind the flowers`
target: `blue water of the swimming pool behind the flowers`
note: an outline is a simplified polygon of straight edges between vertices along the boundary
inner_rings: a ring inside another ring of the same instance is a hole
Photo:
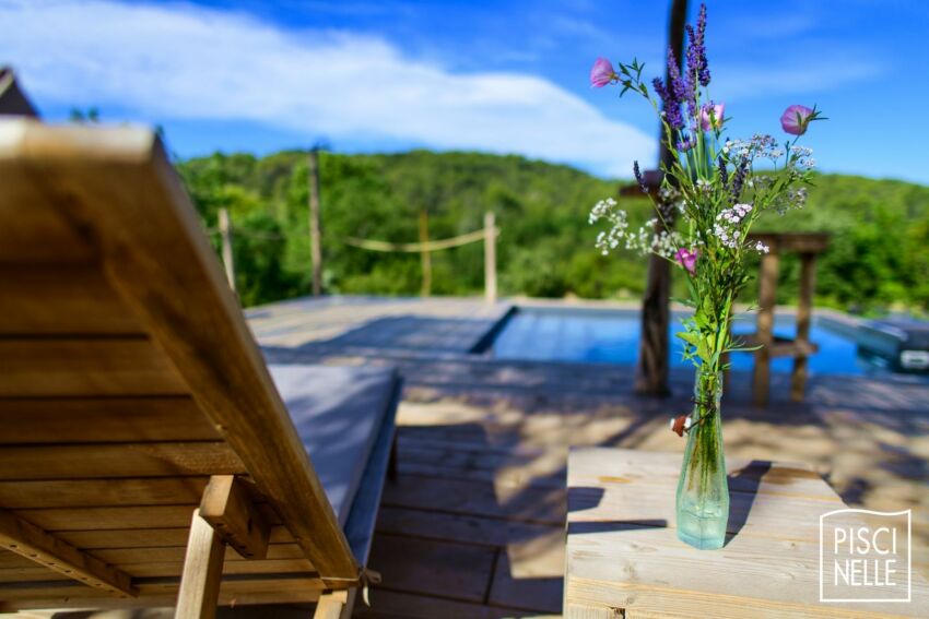
[[[682,358],[683,342],[674,336],[680,330],[680,319],[671,320],[671,365],[692,367]],[[881,369],[879,364],[858,355],[854,328],[816,317],[810,329],[810,340],[820,350],[810,357],[809,371],[828,374],[863,374]],[[734,333],[754,330],[754,316],[733,322]],[[796,323],[791,316],[777,317],[774,332],[792,337]],[[634,365],[638,355],[642,333],[639,313],[632,310],[519,308],[493,341],[490,355],[497,359],[537,361],[583,361]],[[750,370],[752,355],[736,353],[731,356],[732,369]],[[789,372],[792,359],[772,360],[772,371]]]

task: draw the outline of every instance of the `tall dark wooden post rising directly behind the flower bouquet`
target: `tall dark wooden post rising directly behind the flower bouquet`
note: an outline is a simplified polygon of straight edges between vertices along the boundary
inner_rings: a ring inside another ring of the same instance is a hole
[[[687,0],[672,0],[668,20],[668,45],[674,51],[679,67],[684,59],[684,25],[687,21]],[[666,70],[665,83],[671,79]],[[673,136],[672,136],[673,138]],[[665,130],[659,138],[660,162],[667,167],[673,164],[674,155],[665,145]],[[663,211],[663,204],[659,207]],[[655,233],[660,234],[674,225],[670,210],[665,219],[659,218]],[[642,338],[638,346],[638,365],[635,376],[635,392],[645,395],[667,395],[668,389],[668,328],[670,325],[671,269],[663,258],[651,255],[648,261],[648,283],[642,298]]]

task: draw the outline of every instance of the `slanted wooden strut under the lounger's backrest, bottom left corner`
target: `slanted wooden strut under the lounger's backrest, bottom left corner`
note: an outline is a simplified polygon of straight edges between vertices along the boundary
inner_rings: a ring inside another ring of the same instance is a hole
[[[108,591],[124,598],[138,595],[138,591],[132,586],[131,576],[122,570],[2,510],[0,510],[0,546],[87,586]]]

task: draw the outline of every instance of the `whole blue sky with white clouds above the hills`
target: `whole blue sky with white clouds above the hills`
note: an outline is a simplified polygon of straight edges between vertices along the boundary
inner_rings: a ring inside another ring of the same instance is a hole
[[[94,106],[158,123],[181,156],[324,138],[342,152],[511,152],[628,177],[633,159],[654,163],[655,118],[587,76],[600,55],[660,74],[669,4],[0,0],[0,61],[47,119]],[[830,117],[807,140],[820,169],[929,183],[917,122],[929,2],[707,5],[710,91],[732,136],[778,135],[786,106],[815,103]]]

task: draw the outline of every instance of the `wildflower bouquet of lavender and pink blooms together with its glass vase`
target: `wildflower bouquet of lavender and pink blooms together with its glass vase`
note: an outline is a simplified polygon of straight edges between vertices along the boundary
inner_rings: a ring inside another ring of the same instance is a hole
[[[612,199],[593,206],[590,223],[607,224],[596,243],[604,254],[621,247],[655,253],[686,276],[685,302],[694,311],[678,336],[684,341],[684,357],[696,367],[696,380],[693,412],[672,421],[674,431],[687,433],[678,487],[678,536],[698,548],[719,548],[729,514],[719,420],[722,370],[727,353],[744,349],[731,336],[732,306],[751,279],[749,257],[768,251],[762,242],[751,242],[749,234],[771,211],[783,215],[802,207],[814,162],[810,148],[797,141],[821,116],[815,107],[791,105],[780,123],[792,140],[781,143],[762,134],[748,141],[727,139],[726,107],[709,96],[705,33],[706,7],[701,5],[696,27],[687,26],[685,63],[679,68],[669,49],[668,83],[656,78],[651,90],[637,60],[619,63],[618,70],[604,58],[595,62],[592,86],[616,86],[620,96],[636,93],[651,104],[671,163],[662,163],[657,195],[646,187],[637,162],[633,167],[655,206],[655,217],[640,229],[630,229],[626,213]]]

